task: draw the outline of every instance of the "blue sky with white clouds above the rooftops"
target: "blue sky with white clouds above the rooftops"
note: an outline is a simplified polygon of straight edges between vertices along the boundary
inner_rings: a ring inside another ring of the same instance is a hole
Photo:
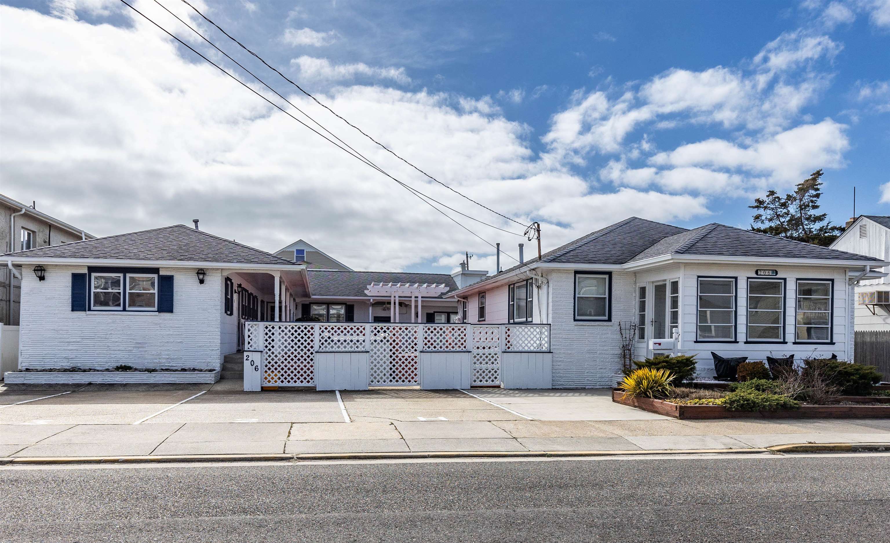
[[[291,94],[179,0],[159,1],[399,179],[521,230]],[[480,239],[117,0],[6,4],[12,198],[97,235],[194,215],[266,250],[303,238],[361,269],[449,271],[463,250],[494,269]],[[134,4],[207,50],[153,0]],[[629,215],[747,226],[754,197],[820,167],[833,222],[852,213],[854,185],[857,213],[890,215],[888,0],[195,5],[417,166],[543,223],[545,250]],[[454,216],[514,255],[522,241]]]

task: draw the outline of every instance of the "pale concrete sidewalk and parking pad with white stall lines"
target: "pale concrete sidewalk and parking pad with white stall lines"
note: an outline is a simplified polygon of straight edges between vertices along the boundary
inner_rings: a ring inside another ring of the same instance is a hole
[[[341,405],[335,393],[309,391],[117,388],[0,387],[0,458],[753,450],[787,443],[890,443],[887,419],[676,420],[614,404],[605,390],[344,392]]]

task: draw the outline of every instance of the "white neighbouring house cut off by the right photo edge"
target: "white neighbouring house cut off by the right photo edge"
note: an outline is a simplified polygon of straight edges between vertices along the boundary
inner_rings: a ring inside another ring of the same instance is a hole
[[[890,216],[860,215],[831,248],[890,260]],[[865,279],[856,285],[856,330],[890,330],[890,280]]]

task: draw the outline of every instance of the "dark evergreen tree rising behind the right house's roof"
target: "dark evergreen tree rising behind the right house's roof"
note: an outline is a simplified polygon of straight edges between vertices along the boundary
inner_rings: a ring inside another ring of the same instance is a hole
[[[794,192],[784,197],[770,190],[765,198],[754,199],[754,205],[748,206],[757,211],[751,230],[822,247],[831,245],[844,227],[827,221],[827,213],[816,213],[822,195],[821,176],[822,170],[816,170],[803,182],[797,183]]]

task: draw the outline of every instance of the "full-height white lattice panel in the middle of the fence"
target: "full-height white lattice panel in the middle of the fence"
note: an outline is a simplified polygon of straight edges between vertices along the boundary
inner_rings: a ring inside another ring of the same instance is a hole
[[[417,385],[417,325],[371,326],[368,380],[371,386]]]

